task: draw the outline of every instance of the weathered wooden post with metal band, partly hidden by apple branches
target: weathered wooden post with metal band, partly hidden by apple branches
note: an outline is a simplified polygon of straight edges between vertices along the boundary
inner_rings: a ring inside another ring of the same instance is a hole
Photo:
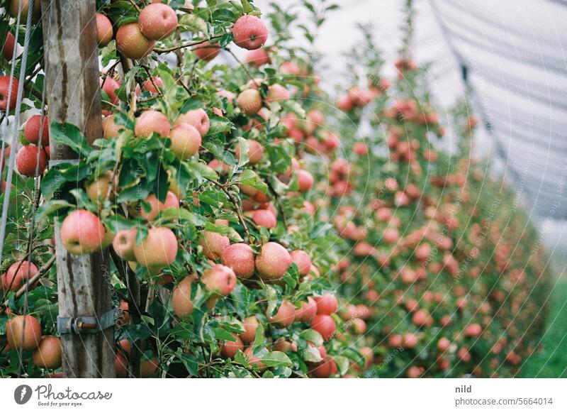
[[[41,6],[50,121],[78,126],[92,144],[103,134],[96,1],[41,0]],[[63,145],[51,143],[50,149],[50,167],[77,157]],[[55,251],[60,317],[101,316],[111,310],[108,250],[70,255],[61,244],[56,225]],[[114,377],[113,335],[113,325],[94,333],[62,334],[64,377]]]

